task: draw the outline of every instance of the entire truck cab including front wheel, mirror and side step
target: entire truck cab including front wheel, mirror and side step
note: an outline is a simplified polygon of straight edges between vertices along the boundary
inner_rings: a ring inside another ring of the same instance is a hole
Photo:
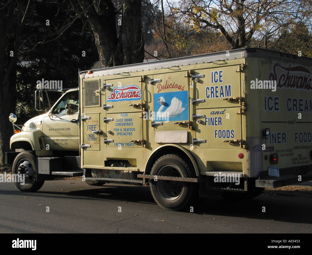
[[[47,91],[37,90],[35,95],[36,110],[46,113],[28,120],[22,128],[13,123],[13,128],[18,129],[10,139],[10,147],[16,152],[6,153],[12,173],[24,178],[25,184],[16,183],[21,191],[37,191],[45,180],[56,175],[83,174],[79,157],[79,89],[67,90],[52,107]]]

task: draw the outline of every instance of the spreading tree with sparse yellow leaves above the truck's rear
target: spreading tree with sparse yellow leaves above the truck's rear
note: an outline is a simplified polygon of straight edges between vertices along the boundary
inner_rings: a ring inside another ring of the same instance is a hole
[[[219,30],[232,49],[248,46],[252,38],[267,47],[282,29],[311,19],[309,0],[183,0],[172,4],[176,17],[193,22],[197,30]]]

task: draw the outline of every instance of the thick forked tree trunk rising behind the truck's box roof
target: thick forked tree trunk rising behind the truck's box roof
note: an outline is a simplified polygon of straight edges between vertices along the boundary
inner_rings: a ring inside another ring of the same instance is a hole
[[[79,0],[95,36],[103,67],[143,62],[144,41],[141,26],[141,1],[122,0],[122,19],[119,36],[116,29],[116,9],[110,0],[94,5]],[[120,21],[118,21],[120,25]]]

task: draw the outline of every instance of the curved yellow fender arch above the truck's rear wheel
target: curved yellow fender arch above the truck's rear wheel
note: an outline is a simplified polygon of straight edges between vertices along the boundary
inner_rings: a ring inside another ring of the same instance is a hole
[[[191,159],[189,158],[188,154],[186,154],[183,150],[175,146],[170,146],[170,145],[159,148],[151,155],[151,157],[149,158],[149,161],[146,164],[145,174],[150,174],[152,167],[154,163],[156,162],[156,160],[166,154],[178,154],[188,164],[188,167],[190,168],[193,175],[196,176],[194,165]]]

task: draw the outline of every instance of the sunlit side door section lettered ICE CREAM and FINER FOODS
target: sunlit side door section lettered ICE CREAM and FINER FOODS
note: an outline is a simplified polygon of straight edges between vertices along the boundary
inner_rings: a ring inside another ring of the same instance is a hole
[[[242,97],[241,66],[223,66],[194,70],[194,74],[203,74],[193,81],[195,99],[204,99],[204,102],[195,104],[196,138],[205,139],[205,143],[196,143],[198,148],[240,149],[237,142],[241,140],[242,116],[240,100],[228,100]]]

